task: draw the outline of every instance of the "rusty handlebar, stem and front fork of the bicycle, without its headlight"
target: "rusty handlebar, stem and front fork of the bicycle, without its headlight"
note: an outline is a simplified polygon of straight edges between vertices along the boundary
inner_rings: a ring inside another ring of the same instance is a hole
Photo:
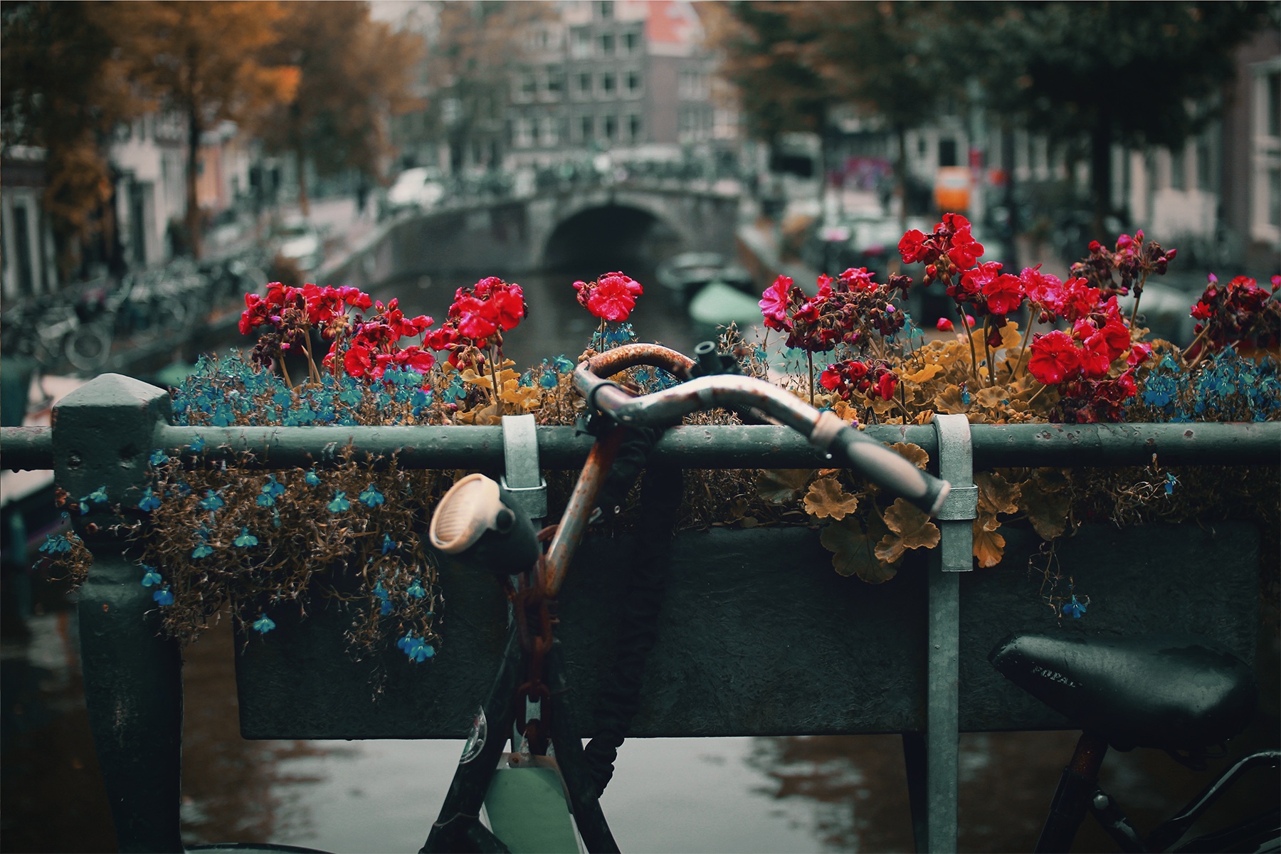
[[[649,365],[660,367],[685,380],[681,385],[652,394],[635,397],[629,391],[606,379],[628,367]],[[514,597],[516,618],[509,629],[507,647],[493,688],[480,714],[477,717],[473,740],[464,749],[459,769],[455,772],[450,793],[442,805],[439,818],[421,851],[459,850],[468,844],[477,850],[506,850],[502,842],[479,823],[479,810],[488,782],[509,734],[515,723],[512,697],[524,690],[519,685],[519,668],[526,663],[525,652],[546,654],[544,684],[548,685],[546,702],[550,705],[551,743],[556,750],[561,773],[579,834],[591,851],[617,851],[597,799],[596,789],[583,761],[583,746],[573,729],[573,713],[560,647],[551,640],[550,626],[542,638],[528,638],[523,609],[525,600],[519,597],[533,592],[539,602],[553,600],[565,581],[565,574],[596,507],[623,438],[624,425],[657,426],[679,421],[680,416],[716,407],[749,408],[757,417],[772,417],[790,426],[822,449],[843,451],[845,457],[867,476],[889,489],[912,497],[918,507],[936,510],[948,494],[947,481],[939,481],[889,448],[866,439],[830,412],[820,412],[794,396],[761,380],[738,375],[715,375],[690,379],[693,360],[657,344],[624,344],[582,362],[574,371],[574,385],[588,402],[588,407],[605,415],[612,424],[592,447],[574,490],[570,494],[560,524],[551,535],[551,544],[543,558],[518,583]],[[830,456],[830,455],[829,455]],[[524,644],[521,635],[525,635]],[[546,647],[539,647],[541,641]],[[525,654],[521,654],[525,652]],[[528,684],[526,684],[528,685]],[[493,730],[498,737],[489,739]],[[483,740],[479,748],[473,745]]]

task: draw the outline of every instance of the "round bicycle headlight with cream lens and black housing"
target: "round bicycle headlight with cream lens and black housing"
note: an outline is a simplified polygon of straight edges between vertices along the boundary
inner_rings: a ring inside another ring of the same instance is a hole
[[[450,487],[432,513],[428,538],[446,554],[466,554],[496,575],[525,572],[541,553],[529,519],[507,507],[498,484],[480,474]]]

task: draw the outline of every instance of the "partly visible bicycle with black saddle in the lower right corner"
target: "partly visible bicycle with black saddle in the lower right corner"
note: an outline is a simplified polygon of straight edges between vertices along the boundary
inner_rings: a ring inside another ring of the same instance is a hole
[[[1258,688],[1250,667],[1223,647],[1191,635],[1085,639],[1029,634],[1003,640],[989,661],[1082,730],[1059,777],[1036,851],[1068,850],[1086,813],[1122,851],[1281,850],[1278,809],[1181,842],[1248,771],[1277,768],[1281,750],[1259,750],[1239,759],[1146,839],[1099,786],[1099,768],[1109,746],[1157,748],[1202,769],[1208,748],[1245,729],[1254,716]]]

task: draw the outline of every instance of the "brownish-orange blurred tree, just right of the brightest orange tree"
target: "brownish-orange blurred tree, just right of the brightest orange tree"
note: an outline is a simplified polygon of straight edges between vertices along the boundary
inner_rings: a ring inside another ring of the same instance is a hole
[[[388,117],[421,106],[412,83],[423,40],[371,20],[366,3],[302,0],[284,9],[269,56],[296,67],[298,86],[272,110],[261,136],[269,150],[293,152],[306,214],[309,160],[323,175],[378,175],[391,154]]]

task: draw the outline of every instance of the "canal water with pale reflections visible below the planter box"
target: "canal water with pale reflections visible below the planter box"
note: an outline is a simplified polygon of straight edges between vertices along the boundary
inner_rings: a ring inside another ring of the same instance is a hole
[[[74,613],[41,615],[6,640],[0,848],[114,850],[88,734]],[[461,741],[246,741],[225,624],[184,656],[182,834],[187,844],[269,841],[330,851],[418,850]],[[1275,662],[1275,649],[1269,661]],[[1262,671],[1261,671],[1262,672]],[[1275,685],[1232,754],[1276,744]],[[1030,850],[1072,732],[961,739],[959,849]],[[1112,753],[1103,787],[1141,831],[1225,766],[1193,773],[1154,750]],[[898,736],[648,739],[623,745],[602,799],[623,850],[912,849]],[[1205,830],[1275,807],[1276,773],[1234,790]],[[1114,850],[1086,823],[1075,850]]]

